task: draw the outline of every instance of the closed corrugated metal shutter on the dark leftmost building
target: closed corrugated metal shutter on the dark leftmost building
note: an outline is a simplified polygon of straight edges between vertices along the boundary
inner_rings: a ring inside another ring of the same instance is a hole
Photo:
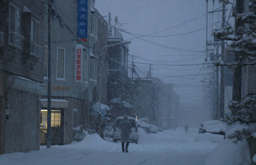
[[[10,116],[5,125],[5,153],[38,149],[38,95],[8,90]]]

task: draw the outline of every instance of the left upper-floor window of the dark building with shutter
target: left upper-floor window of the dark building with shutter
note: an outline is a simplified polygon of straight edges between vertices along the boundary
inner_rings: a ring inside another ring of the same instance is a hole
[[[9,18],[9,42],[11,45],[22,49],[24,37],[20,35],[20,9],[13,4],[10,4]]]

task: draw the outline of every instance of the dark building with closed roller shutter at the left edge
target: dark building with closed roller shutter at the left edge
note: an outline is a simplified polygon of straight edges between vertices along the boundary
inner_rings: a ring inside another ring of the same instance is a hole
[[[32,0],[0,6],[0,154],[38,150],[44,10]]]

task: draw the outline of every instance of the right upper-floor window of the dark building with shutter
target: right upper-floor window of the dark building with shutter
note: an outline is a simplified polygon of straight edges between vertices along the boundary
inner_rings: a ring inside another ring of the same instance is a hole
[[[31,19],[31,54],[36,57],[40,56],[42,47],[39,45],[39,28],[40,24],[35,19]]]

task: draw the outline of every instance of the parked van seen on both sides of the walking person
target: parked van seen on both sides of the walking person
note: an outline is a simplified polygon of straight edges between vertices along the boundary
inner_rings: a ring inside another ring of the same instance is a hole
[[[116,118],[116,120],[115,120],[115,123],[113,125],[113,129],[114,129],[113,130],[113,142],[116,142],[121,139],[119,123],[123,120],[123,118],[124,118],[123,116],[120,116],[120,117]],[[136,120],[135,120],[135,118],[132,118],[132,117],[128,117],[128,120],[132,125],[130,141],[134,141],[137,144],[138,140],[139,140],[139,136],[138,136],[138,126],[137,126]]]

